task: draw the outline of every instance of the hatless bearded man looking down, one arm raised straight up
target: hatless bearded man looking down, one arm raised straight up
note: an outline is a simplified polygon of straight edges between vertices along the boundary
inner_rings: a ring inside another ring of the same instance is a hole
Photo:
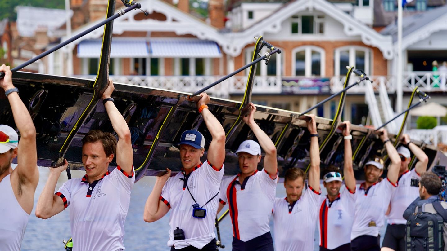
[[[309,251],[314,249],[315,226],[320,201],[320,150],[315,115],[307,121],[310,133],[310,169],[308,188],[301,168],[289,168],[284,175],[287,197],[275,198],[273,206],[276,251]]]

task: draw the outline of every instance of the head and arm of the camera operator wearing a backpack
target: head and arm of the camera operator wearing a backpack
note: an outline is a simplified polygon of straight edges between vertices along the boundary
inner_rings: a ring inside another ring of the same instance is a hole
[[[445,169],[445,167],[444,167]],[[417,207],[426,203],[433,203],[439,201],[439,192],[443,184],[439,176],[433,172],[424,172],[421,174],[421,181],[419,181],[419,198],[414,200],[405,210],[404,218],[409,220],[410,216],[415,213]]]

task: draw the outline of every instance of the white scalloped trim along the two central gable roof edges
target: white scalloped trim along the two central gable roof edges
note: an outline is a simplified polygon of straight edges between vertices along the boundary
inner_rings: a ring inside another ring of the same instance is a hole
[[[334,20],[344,25],[344,32],[347,36],[360,36],[362,42],[366,45],[379,48],[384,54],[385,59],[392,59],[392,38],[391,36],[377,33],[374,29],[367,25],[361,24],[358,20],[344,13],[334,4],[326,0],[295,0],[291,1],[283,7],[278,8],[270,16],[257,22],[255,25],[240,32],[221,33],[219,29],[208,25],[206,22],[193,17],[188,13],[184,13],[180,9],[171,4],[167,4],[162,0],[142,0],[140,2],[142,9],[149,13],[157,12],[166,16],[165,21],[154,19],[135,20],[135,15],[140,12],[132,11],[126,13],[123,17],[118,17],[114,21],[114,34],[122,34],[124,31],[160,31],[174,32],[177,35],[192,34],[199,39],[215,41],[222,47],[223,52],[230,56],[238,56],[243,48],[253,43],[253,37],[264,35],[264,33],[278,33],[282,25],[281,23],[297,12],[316,9]],[[73,32],[73,35],[80,33],[89,27],[101,22],[101,20],[84,25],[80,29]],[[85,39],[101,38],[103,28],[98,28],[92,33],[78,39],[75,43],[69,45],[71,48],[76,46]],[[63,38],[65,40],[67,38]]]

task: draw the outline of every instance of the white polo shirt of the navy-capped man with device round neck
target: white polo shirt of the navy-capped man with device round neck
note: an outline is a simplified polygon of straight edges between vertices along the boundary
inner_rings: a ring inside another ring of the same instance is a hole
[[[214,225],[218,208],[220,181],[223,177],[224,167],[218,168],[206,161],[203,164],[193,167],[193,171],[184,180],[183,168],[175,176],[169,178],[161,191],[160,200],[170,209],[169,217],[169,241],[168,246],[176,249],[193,246],[201,249],[215,238]],[[194,218],[193,205],[195,202],[191,198],[186,185],[200,207],[207,210],[207,215],[203,219]],[[203,206],[205,205],[205,206]],[[180,228],[185,233],[184,240],[174,240],[173,231]]]

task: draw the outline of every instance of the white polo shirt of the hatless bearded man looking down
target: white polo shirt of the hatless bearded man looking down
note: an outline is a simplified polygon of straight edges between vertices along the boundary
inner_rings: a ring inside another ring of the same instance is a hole
[[[318,218],[320,192],[312,187],[294,204],[286,198],[275,198],[273,235],[275,251],[309,251],[315,245],[315,226]]]

